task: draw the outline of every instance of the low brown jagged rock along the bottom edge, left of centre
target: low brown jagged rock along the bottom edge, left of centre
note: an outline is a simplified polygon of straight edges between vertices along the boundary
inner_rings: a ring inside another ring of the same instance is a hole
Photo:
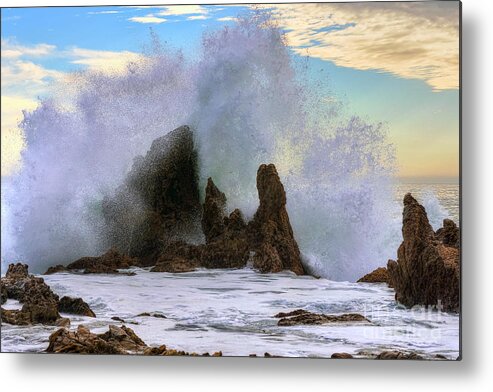
[[[131,328],[124,325],[110,325],[108,331],[102,334],[94,334],[83,325],[79,325],[76,331],[61,328],[50,335],[46,351],[72,354],[198,355],[168,349],[164,345],[149,347]],[[210,356],[208,353],[202,355]],[[222,353],[219,351],[212,356],[220,357]]]

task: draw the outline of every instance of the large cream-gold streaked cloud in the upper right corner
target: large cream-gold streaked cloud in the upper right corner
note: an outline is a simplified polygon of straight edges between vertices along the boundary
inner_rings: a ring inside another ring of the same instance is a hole
[[[270,4],[288,44],[302,55],[361,70],[459,85],[457,2]]]

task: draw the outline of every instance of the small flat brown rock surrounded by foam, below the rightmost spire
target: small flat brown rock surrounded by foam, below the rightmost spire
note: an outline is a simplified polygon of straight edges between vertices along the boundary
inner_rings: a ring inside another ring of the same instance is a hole
[[[303,309],[297,309],[289,313],[278,313],[274,317],[280,318],[277,322],[279,326],[293,325],[322,325],[330,323],[352,323],[352,322],[370,322],[366,317],[357,313],[345,313],[339,315],[318,314],[308,312]]]

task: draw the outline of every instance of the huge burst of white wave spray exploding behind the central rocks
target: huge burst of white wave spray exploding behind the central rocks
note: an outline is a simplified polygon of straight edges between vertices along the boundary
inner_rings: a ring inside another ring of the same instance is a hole
[[[74,73],[63,99],[24,115],[22,169],[3,187],[2,263],[42,272],[105,251],[103,197],[155,138],[187,124],[201,189],[212,177],[247,218],[258,166],[276,164],[311,272],[355,280],[385,265],[400,242],[393,147],[382,124],[342,114],[312,79],[259,12],[204,34],[195,58],[153,37],[125,72]]]

